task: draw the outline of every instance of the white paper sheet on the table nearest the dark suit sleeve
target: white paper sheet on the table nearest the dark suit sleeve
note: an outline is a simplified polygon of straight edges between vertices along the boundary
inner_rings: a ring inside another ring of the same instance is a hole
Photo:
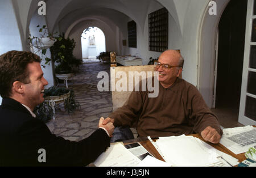
[[[97,167],[133,167],[141,160],[128,151],[121,143],[111,145],[103,152],[94,165]]]

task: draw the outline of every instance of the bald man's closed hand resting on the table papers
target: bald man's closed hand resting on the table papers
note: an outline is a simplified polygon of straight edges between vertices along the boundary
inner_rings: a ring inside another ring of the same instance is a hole
[[[211,143],[218,143],[220,142],[221,135],[218,134],[216,129],[208,126],[201,132],[201,136],[205,139],[205,141]]]

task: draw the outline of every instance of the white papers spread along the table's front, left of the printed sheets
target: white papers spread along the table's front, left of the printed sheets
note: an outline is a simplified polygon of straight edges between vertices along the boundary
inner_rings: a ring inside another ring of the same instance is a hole
[[[235,166],[239,164],[236,158],[192,136],[160,137],[153,145],[166,162],[149,156],[139,144],[132,144],[130,149],[126,149],[121,143],[117,143],[102,153],[94,164],[100,167]],[[147,156],[144,158],[141,155]]]

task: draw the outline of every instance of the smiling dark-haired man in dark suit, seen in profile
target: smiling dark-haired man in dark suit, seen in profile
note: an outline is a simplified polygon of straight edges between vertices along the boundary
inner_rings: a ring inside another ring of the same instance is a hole
[[[32,112],[44,101],[39,56],[11,51],[0,56],[0,166],[86,166],[110,146],[113,124],[71,142],[51,134]]]

